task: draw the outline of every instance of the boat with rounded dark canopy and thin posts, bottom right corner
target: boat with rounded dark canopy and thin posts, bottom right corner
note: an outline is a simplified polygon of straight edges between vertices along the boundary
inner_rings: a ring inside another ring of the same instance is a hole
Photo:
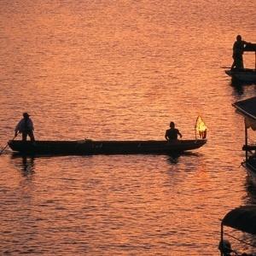
[[[236,238],[235,236],[231,236],[228,233],[224,232],[224,226],[230,227],[234,230],[240,230],[247,234],[256,235],[256,206],[242,206],[237,207],[230,212],[226,213],[224,218],[221,221],[221,238],[219,242],[219,250],[222,256],[225,255],[255,255],[255,254],[247,254],[247,253],[238,253],[237,251],[231,248],[230,241],[224,239],[224,236],[230,236],[236,241],[243,242],[249,246],[253,246],[253,244],[249,244],[247,241],[242,241],[241,239]]]

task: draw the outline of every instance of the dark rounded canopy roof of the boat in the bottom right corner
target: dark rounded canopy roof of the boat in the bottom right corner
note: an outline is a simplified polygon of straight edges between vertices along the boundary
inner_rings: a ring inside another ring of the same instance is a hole
[[[256,235],[256,206],[237,207],[222,220],[224,226]]]

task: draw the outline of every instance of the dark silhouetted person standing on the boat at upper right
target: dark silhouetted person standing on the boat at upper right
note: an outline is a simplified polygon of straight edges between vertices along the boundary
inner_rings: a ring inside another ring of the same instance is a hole
[[[233,64],[231,66],[231,69],[243,69],[243,60],[242,60],[242,54],[244,51],[245,46],[248,43],[246,41],[241,40],[241,35],[238,35],[236,37],[236,42],[233,44]]]

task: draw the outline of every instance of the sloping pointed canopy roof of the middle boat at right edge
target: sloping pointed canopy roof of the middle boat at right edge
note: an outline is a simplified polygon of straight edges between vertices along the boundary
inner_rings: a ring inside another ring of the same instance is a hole
[[[245,118],[246,127],[251,127],[253,131],[256,131],[256,96],[235,102],[232,105],[236,108],[237,113]]]

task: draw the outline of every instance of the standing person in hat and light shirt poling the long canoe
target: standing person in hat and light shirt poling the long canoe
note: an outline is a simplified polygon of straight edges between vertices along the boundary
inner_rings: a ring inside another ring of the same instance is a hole
[[[20,119],[20,122],[15,127],[15,137],[18,133],[22,134],[22,141],[26,141],[26,137],[29,136],[32,142],[35,141],[34,137],[34,125],[30,115],[28,113],[23,113],[23,119]]]

